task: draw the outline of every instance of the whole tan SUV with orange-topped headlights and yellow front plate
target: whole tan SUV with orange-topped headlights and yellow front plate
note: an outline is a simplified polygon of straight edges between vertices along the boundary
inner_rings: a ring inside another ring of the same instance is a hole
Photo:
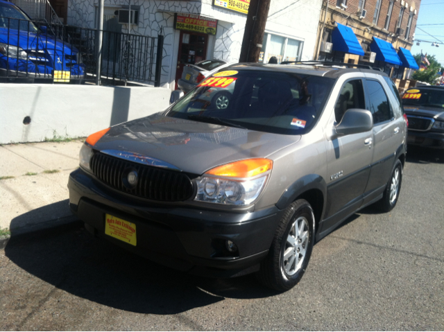
[[[220,109],[210,96],[228,90]],[[234,65],[89,136],[70,206],[96,236],[171,268],[289,290],[315,241],[370,204],[395,207],[406,134],[382,72]]]

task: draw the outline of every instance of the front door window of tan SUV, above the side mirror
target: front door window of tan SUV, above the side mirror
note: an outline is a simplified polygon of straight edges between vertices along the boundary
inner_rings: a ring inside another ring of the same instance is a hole
[[[334,116],[336,123],[340,123],[345,111],[350,108],[366,108],[366,100],[364,98],[364,87],[362,80],[349,80],[345,82],[341,89],[341,94],[334,106]]]

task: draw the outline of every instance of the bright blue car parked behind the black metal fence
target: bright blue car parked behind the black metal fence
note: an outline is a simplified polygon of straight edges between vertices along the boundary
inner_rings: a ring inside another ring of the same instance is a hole
[[[51,35],[47,26],[37,27],[15,4],[0,0],[0,80],[2,78],[83,82],[85,64],[76,47]]]

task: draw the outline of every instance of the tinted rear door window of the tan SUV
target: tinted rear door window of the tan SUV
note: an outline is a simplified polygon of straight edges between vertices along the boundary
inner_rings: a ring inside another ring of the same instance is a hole
[[[390,104],[381,83],[367,80],[368,103],[373,115],[373,123],[382,123],[391,119]]]

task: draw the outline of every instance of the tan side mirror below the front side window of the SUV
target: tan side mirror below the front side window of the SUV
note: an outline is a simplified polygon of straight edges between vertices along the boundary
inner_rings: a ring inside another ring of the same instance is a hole
[[[350,108],[344,113],[339,125],[336,125],[336,134],[358,134],[359,132],[368,132],[372,128],[373,116],[370,111]]]

